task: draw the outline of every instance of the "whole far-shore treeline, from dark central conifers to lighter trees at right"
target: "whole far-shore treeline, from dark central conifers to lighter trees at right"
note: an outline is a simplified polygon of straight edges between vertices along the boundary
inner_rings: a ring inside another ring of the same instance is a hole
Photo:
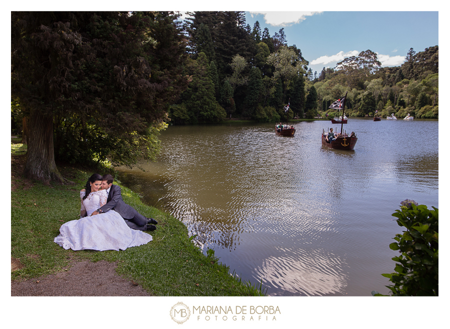
[[[231,115],[271,122],[333,115],[328,106],[345,91],[348,116],[437,118],[438,46],[411,48],[397,67],[381,67],[366,50],[317,74],[296,45],[287,45],[283,28],[270,36],[258,21],[245,24],[241,11],[190,12],[184,31],[191,82],[170,108],[175,124]]]

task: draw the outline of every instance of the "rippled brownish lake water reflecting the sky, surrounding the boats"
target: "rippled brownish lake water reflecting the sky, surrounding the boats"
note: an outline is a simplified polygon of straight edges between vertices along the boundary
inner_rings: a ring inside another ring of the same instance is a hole
[[[269,295],[388,293],[391,214],[409,198],[438,207],[437,120],[350,118],[354,151],[323,148],[329,121],[169,126],[155,163],[120,180],[197,234],[230,272]]]

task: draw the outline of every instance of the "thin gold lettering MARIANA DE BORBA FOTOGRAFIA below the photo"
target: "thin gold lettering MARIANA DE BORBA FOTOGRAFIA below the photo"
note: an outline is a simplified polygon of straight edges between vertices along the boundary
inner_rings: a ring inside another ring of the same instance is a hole
[[[275,315],[281,314],[278,306],[193,306],[192,315],[197,320],[212,321],[276,321]]]

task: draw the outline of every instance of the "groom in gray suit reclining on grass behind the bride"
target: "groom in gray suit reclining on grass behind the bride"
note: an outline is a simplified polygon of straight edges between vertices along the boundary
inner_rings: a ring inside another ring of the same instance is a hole
[[[120,186],[113,185],[114,179],[110,174],[105,174],[102,177],[101,189],[106,190],[108,198],[106,204],[99,209],[92,212],[91,215],[96,215],[97,213],[106,212],[108,210],[115,210],[119,215],[123,217],[126,224],[132,229],[139,229],[141,231],[145,230],[155,230],[156,226],[152,224],[157,224],[158,222],[153,218],[147,218],[136,211],[132,206],[126,204],[122,200],[122,194],[120,192]]]

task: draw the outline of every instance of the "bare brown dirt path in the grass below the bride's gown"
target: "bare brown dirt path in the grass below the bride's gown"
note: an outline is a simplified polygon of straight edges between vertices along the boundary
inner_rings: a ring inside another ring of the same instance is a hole
[[[151,296],[132,280],[117,275],[116,263],[72,262],[67,270],[11,281],[11,296]]]

